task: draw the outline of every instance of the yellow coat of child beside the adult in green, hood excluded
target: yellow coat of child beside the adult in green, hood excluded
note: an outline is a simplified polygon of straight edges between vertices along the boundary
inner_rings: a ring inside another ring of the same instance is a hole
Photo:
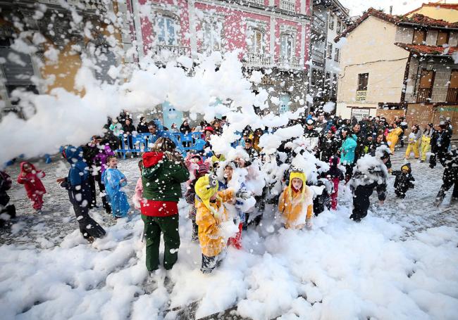
[[[213,215],[213,212],[196,198],[196,224],[199,226],[199,243],[202,254],[207,257],[215,257],[225,248],[225,239],[221,234],[221,223],[227,221],[228,212],[223,203],[232,200],[234,196],[232,189],[218,191],[216,201],[210,202],[211,208],[214,212],[218,212],[218,215]]]

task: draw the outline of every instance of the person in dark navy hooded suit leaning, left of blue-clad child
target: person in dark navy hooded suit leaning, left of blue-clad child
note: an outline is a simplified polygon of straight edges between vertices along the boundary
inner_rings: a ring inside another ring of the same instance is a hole
[[[82,161],[82,148],[68,146],[63,151],[63,155],[70,163],[70,170],[68,177],[61,183],[61,186],[68,190],[68,198],[73,205],[73,210],[75,210],[80,232],[86,239],[90,236],[101,238],[105,235],[105,230],[89,217],[91,190],[87,165]]]

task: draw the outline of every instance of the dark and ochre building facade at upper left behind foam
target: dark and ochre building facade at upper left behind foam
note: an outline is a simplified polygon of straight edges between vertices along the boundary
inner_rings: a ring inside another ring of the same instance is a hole
[[[1,114],[20,115],[16,89],[47,94],[61,87],[76,92],[75,75],[83,54],[99,67],[95,77],[106,82],[113,82],[108,75],[111,65],[134,62],[115,50],[132,46],[128,24],[111,28],[100,19],[108,13],[128,17],[122,1],[73,0],[68,6],[58,0],[0,1],[0,9]],[[81,20],[76,22],[74,15]],[[93,26],[89,34],[83,31],[87,23]]]

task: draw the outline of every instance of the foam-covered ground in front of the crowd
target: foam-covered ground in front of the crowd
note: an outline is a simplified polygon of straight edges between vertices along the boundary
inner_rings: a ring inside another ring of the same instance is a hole
[[[393,163],[402,163],[399,155]],[[338,212],[314,219],[311,231],[281,228],[268,207],[263,225],[243,235],[243,250],[230,248],[211,275],[199,271],[199,246],[190,241],[187,204],[180,202],[173,290],[159,281],[149,293],[138,213],[115,224],[94,210],[108,232],[88,245],[65,192],[51,184],[61,165],[41,166],[50,186],[44,215],[30,213],[19,186],[11,192],[20,217],[1,233],[2,319],[176,319],[179,309],[168,310],[194,301],[196,318],[236,306],[237,314],[252,319],[456,319],[457,213],[448,197],[440,209],[431,207],[440,168],[414,162],[416,189],[400,201],[390,186],[385,205],[373,205],[360,224],[348,219],[345,192]],[[130,179],[131,196],[136,161],[119,167]]]

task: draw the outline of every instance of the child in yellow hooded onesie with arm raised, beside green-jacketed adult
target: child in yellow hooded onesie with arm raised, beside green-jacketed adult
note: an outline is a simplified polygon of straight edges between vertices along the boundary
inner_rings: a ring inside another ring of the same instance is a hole
[[[223,258],[228,239],[221,234],[221,224],[228,219],[223,203],[235,200],[235,193],[228,188],[218,191],[218,180],[206,174],[197,180],[196,191],[196,223],[199,226],[199,243],[202,250],[202,267],[204,274],[210,274],[218,267]]]

